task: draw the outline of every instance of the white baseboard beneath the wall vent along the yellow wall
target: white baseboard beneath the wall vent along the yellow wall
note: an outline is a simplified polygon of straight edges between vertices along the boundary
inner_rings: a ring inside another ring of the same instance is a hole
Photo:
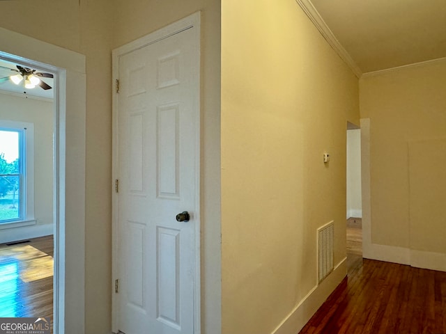
[[[346,258],[344,258],[344,260],[337,264],[332,273],[330,273],[320,285],[316,285],[307,296],[295,306],[294,310],[291,311],[274,331],[272,331],[272,334],[299,333],[328,296],[330,296],[339,283],[346,277],[346,274]]]

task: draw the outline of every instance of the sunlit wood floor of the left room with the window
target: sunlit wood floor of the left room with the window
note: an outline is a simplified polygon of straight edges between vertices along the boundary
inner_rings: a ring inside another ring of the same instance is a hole
[[[53,317],[53,238],[0,245],[0,317]]]

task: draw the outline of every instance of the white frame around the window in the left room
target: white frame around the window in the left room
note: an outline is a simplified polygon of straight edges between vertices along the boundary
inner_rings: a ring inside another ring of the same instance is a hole
[[[21,174],[24,175],[24,182],[22,182],[22,189],[20,189],[22,219],[0,223],[0,230],[36,225],[36,218],[34,217],[34,125],[29,122],[0,120],[0,129],[22,131],[23,144],[20,148],[20,157],[24,159],[22,162],[24,170],[21,170]]]

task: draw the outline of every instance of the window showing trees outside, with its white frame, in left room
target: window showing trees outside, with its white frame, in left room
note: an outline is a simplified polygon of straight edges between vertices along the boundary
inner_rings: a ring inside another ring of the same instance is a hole
[[[33,125],[0,120],[0,226],[33,221]]]

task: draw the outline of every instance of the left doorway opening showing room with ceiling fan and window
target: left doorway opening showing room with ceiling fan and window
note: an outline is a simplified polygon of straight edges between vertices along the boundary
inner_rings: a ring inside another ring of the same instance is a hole
[[[59,316],[59,69],[0,52],[0,317]],[[57,245],[57,247],[55,247]],[[56,265],[56,267],[58,267]]]

